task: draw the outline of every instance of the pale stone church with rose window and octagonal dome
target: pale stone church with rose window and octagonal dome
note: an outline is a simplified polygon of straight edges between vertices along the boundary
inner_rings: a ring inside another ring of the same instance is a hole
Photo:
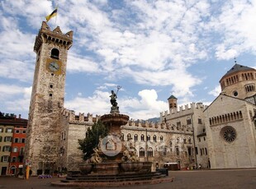
[[[256,70],[235,64],[220,85],[204,112],[211,168],[255,168]]]

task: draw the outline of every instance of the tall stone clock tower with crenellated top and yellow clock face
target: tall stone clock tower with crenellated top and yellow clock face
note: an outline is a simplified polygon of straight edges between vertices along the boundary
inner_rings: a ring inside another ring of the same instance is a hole
[[[59,26],[50,30],[42,22],[34,46],[36,69],[26,133],[25,159],[33,175],[56,170],[67,56],[72,44],[73,31],[63,34]]]

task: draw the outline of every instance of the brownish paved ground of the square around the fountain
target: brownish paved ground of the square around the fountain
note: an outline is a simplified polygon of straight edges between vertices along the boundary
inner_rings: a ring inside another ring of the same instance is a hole
[[[125,189],[166,189],[166,188],[256,188],[256,169],[230,169],[230,170],[193,170],[193,171],[169,171],[168,177],[174,177],[173,182],[160,183],[157,185],[144,185],[133,187],[122,187]],[[21,179],[17,177],[0,177],[0,188],[18,189],[45,189],[51,187],[50,182],[56,182],[59,178]],[[68,187],[58,187],[66,189]],[[73,187],[74,189],[82,187]],[[84,187],[85,188],[85,187]],[[92,187],[86,187],[87,189]],[[121,187],[111,187],[116,189]],[[109,189],[109,187],[108,187]]]

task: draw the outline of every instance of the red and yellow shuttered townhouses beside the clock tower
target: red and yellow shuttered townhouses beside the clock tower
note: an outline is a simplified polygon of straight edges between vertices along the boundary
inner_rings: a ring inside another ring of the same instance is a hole
[[[0,112],[0,175],[16,175],[23,168],[27,120]]]

